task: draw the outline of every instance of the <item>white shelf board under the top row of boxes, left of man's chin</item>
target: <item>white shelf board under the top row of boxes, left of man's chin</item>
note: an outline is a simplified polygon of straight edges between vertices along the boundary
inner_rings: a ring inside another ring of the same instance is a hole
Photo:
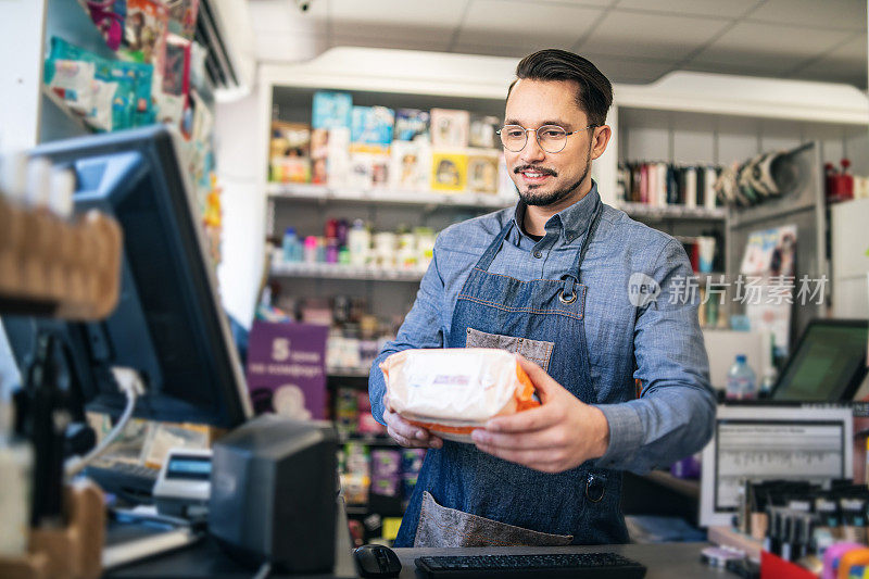
[[[393,205],[430,205],[455,207],[500,209],[515,203],[515,199],[486,193],[441,193],[401,189],[344,189],[327,185],[269,182],[266,186],[273,199],[303,201],[345,201],[383,203]]]

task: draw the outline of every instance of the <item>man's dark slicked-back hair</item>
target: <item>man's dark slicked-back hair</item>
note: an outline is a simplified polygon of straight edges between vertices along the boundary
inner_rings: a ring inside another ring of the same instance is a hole
[[[613,85],[597,67],[579,54],[566,50],[549,48],[529,54],[516,66],[516,80],[574,80],[579,85],[577,105],[593,125],[606,124],[606,112],[613,104]]]

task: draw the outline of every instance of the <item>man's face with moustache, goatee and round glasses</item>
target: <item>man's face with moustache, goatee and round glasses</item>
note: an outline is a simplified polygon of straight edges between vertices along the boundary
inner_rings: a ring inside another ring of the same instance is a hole
[[[504,149],[507,171],[528,205],[551,205],[574,193],[589,175],[594,129],[576,101],[577,85],[569,80],[518,80],[507,99],[505,125],[540,128],[557,125],[568,135],[561,152],[540,148],[534,133],[519,152]],[[599,153],[600,154],[600,153]],[[597,155],[595,155],[596,158]]]

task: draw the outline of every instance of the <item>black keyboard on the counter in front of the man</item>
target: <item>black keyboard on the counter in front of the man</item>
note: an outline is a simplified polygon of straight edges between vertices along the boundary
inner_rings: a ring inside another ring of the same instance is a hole
[[[417,571],[427,578],[499,579],[576,577],[577,579],[642,579],[645,567],[615,553],[541,555],[446,555],[418,557]]]

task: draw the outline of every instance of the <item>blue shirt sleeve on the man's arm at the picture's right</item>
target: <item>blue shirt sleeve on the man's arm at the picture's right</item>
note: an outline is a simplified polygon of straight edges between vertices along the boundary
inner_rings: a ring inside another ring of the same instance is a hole
[[[640,307],[634,325],[638,400],[597,407],[609,423],[600,467],[646,473],[702,450],[713,435],[716,397],[697,319],[700,295],[682,246],[670,240],[651,277],[657,299]]]

